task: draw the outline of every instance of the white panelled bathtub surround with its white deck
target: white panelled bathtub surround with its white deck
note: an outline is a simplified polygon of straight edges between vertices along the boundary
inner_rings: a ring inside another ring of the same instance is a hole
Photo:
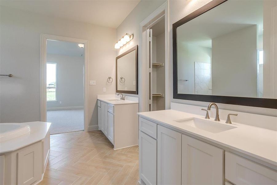
[[[51,123],[34,121],[22,125],[28,125],[30,132],[0,142],[1,185],[38,184],[43,178],[50,154]]]

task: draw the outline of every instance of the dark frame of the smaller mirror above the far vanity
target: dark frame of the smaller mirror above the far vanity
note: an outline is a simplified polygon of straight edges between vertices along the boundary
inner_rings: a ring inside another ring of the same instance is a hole
[[[124,91],[124,90],[117,90],[117,59],[120,59],[121,57],[127,55],[128,53],[132,52],[136,50],[136,91]],[[115,60],[116,63],[116,92],[119,93],[126,93],[126,94],[138,94],[138,65],[137,65],[137,45],[132,47],[131,49],[129,49],[128,51],[125,51],[124,53],[122,53],[121,55],[116,57]]]

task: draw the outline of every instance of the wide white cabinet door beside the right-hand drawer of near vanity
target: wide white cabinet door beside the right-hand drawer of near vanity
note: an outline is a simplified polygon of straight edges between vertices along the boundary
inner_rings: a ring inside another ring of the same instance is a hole
[[[182,135],[182,184],[224,184],[224,150]]]

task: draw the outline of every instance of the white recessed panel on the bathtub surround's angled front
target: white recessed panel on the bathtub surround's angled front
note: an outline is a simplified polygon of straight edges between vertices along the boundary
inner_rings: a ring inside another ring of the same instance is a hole
[[[42,142],[19,150],[17,153],[17,184],[34,184],[42,175]]]

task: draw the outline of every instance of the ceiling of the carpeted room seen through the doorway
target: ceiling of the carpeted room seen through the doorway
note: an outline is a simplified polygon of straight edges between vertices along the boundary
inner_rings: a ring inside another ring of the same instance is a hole
[[[64,41],[47,40],[47,54],[82,56],[84,48],[78,46],[78,43],[70,43]]]

